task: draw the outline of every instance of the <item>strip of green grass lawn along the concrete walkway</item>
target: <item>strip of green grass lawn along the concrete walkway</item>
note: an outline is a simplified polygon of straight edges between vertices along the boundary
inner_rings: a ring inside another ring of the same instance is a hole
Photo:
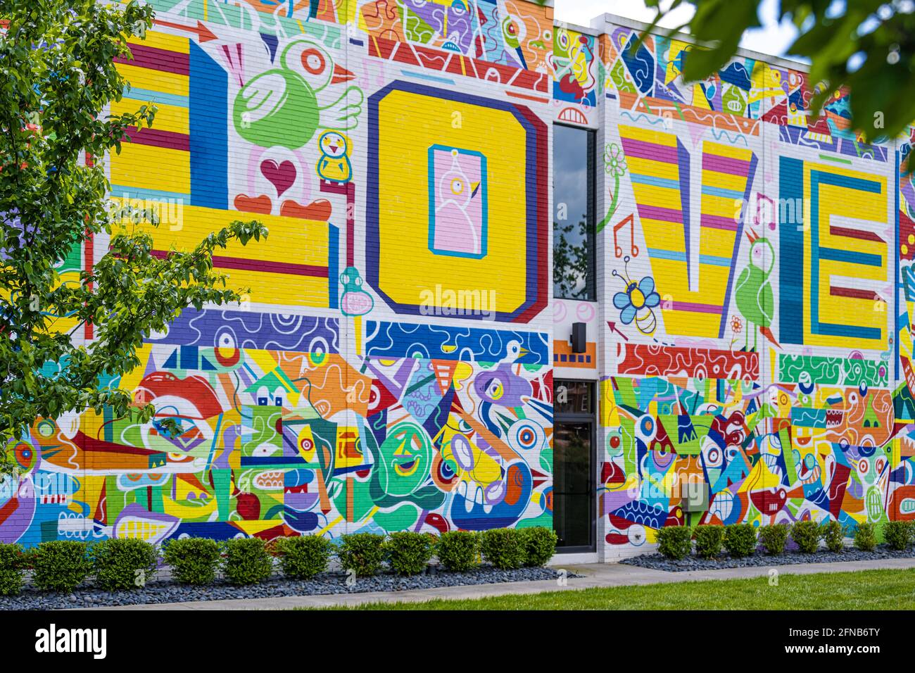
[[[915,569],[688,581],[640,587],[495,596],[468,601],[371,603],[331,610],[912,610]]]

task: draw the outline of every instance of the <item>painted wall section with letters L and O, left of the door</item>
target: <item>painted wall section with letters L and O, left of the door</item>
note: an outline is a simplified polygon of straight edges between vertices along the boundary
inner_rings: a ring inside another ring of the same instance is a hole
[[[156,209],[163,255],[241,217],[270,237],[214,259],[241,307],[186,311],[117,382],[153,422],[21,439],[0,539],[551,526],[546,10],[153,5],[114,107],[159,111],[113,199]]]

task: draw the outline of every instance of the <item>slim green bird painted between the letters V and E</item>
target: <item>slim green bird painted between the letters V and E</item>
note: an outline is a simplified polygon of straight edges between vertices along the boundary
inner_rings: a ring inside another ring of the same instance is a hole
[[[749,239],[749,264],[737,277],[737,288],[734,291],[734,300],[737,310],[747,321],[745,331],[744,350],[749,351],[749,332],[753,331],[753,347],[757,350],[759,334],[780,348],[775,340],[770,326],[775,312],[775,298],[772,294],[770,276],[775,266],[775,249],[769,240],[756,233],[748,232]]]

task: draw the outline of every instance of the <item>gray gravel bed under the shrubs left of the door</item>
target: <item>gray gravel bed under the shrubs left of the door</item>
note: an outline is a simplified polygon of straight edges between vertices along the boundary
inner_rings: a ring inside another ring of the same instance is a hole
[[[567,576],[577,577],[574,574]],[[156,580],[149,581],[142,589],[133,591],[102,592],[92,586],[85,586],[68,594],[39,592],[27,586],[17,596],[0,596],[0,610],[61,610],[109,605],[270,598],[272,596],[406,592],[416,589],[437,589],[473,584],[554,580],[558,577],[560,577],[560,573],[550,568],[496,570],[490,566],[481,566],[469,572],[429,570],[422,575],[408,577],[383,572],[370,578],[357,578],[352,586],[347,586],[346,574],[334,571],[322,572],[312,580],[289,580],[282,575],[276,575],[260,584],[246,587],[234,587],[222,580],[205,587],[190,587],[173,581]]]

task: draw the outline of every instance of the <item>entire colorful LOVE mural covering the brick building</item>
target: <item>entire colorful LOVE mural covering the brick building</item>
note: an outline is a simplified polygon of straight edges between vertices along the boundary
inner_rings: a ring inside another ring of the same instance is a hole
[[[0,539],[549,526],[554,374],[597,382],[601,559],[661,526],[915,519],[915,133],[867,145],[784,61],[687,83],[687,43],[524,0],[151,5],[113,109],[159,112],[113,199],[157,210],[163,255],[271,234],[214,259],[242,306],[119,381],[159,418],[21,438]],[[596,303],[549,289],[554,123],[603,129]]]

